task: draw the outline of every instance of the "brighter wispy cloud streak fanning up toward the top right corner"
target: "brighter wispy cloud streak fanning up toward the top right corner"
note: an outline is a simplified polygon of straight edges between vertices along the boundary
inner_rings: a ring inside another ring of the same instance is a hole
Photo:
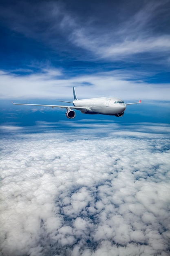
[[[117,60],[133,54],[152,53],[165,54],[170,50],[169,33],[161,34],[155,31],[155,19],[162,14],[163,2],[149,2],[132,16],[126,17],[117,26],[111,25],[100,34],[95,27],[75,29],[72,41],[93,52],[99,58]],[[159,27],[159,26],[158,26]],[[166,55],[164,57],[167,57]]]

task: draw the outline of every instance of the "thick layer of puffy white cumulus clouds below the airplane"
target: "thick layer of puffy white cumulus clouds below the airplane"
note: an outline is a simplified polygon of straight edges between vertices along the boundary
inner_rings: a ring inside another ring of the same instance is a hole
[[[168,137],[19,132],[2,139],[2,256],[168,256]]]

